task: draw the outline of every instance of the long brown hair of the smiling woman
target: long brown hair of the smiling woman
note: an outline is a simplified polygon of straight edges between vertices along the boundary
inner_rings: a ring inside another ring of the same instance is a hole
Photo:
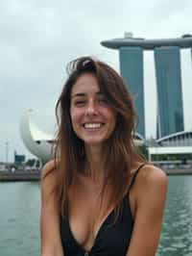
[[[105,142],[105,181],[101,197],[110,184],[112,193],[109,205],[115,205],[117,209],[127,192],[133,163],[144,162],[144,159],[137,153],[133,142],[136,115],[132,96],[126,89],[122,77],[114,69],[93,58],[77,59],[68,64],[67,71],[68,79],[56,105],[59,129],[55,147],[56,168],[54,171],[58,172],[57,189],[60,198],[60,212],[62,216],[65,215],[68,207],[69,188],[77,173],[84,170],[86,161],[84,141],[79,139],[73,131],[70,117],[71,90],[84,73],[94,74],[101,92],[116,113],[114,131]]]

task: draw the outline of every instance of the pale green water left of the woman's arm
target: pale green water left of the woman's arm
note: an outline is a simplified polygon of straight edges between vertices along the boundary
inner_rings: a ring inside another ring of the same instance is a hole
[[[39,255],[39,185],[0,183],[0,255]]]

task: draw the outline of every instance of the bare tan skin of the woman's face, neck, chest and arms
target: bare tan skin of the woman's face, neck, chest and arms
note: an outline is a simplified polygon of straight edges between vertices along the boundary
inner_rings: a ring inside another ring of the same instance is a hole
[[[76,177],[69,192],[69,222],[76,241],[85,250],[90,250],[99,228],[114,207],[111,205],[108,212],[97,220],[91,232],[92,223],[98,216],[97,199],[105,171],[101,164],[102,144],[108,139],[115,125],[115,113],[108,106],[104,96],[100,94],[93,75],[81,76],[73,86],[70,115],[74,131],[84,140],[87,165],[84,167],[84,174]],[[87,124],[86,129],[85,124]],[[140,164],[135,162],[132,166],[131,179]],[[53,161],[46,164],[42,175],[53,165]],[[60,243],[59,206],[54,194],[52,197],[48,196],[55,185],[56,175],[56,172],[48,175],[41,187],[41,256],[64,255]],[[112,188],[108,189],[104,203],[108,202],[110,190]],[[165,173],[155,166],[142,167],[130,192],[130,198],[128,198],[134,218],[134,227],[127,256],[154,256],[156,254],[166,192]]]

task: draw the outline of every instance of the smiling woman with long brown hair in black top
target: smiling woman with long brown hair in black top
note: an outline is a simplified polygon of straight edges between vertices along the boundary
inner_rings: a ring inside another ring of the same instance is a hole
[[[42,170],[41,255],[154,256],[167,178],[137,153],[123,79],[89,57],[69,65],[55,160]]]

